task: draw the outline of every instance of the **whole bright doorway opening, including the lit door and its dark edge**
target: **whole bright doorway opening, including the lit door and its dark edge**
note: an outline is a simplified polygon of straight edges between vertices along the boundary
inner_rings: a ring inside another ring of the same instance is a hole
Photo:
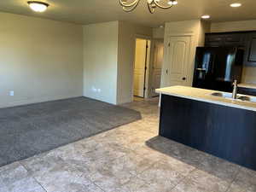
[[[145,98],[148,96],[148,67],[150,58],[150,40],[136,38],[134,75],[133,75],[133,96]]]

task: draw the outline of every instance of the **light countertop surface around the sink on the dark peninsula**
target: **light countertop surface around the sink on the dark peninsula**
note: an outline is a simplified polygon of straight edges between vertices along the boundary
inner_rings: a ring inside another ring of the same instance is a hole
[[[155,91],[164,95],[178,96],[200,102],[211,102],[218,105],[224,105],[232,108],[242,108],[256,112],[256,102],[243,102],[239,100],[233,100],[231,98],[211,96],[213,92],[220,92],[217,90],[204,90],[187,86],[172,86],[157,89]]]

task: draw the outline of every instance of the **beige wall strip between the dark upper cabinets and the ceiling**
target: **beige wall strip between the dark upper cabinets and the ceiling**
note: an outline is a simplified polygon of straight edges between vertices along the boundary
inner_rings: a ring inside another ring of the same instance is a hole
[[[211,32],[240,32],[256,30],[256,20],[212,23]]]

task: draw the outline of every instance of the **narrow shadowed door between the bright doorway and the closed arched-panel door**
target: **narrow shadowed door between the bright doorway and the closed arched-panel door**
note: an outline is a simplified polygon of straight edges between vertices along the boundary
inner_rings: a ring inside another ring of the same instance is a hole
[[[160,88],[161,69],[164,56],[164,41],[154,40],[154,58],[152,63],[152,91],[151,96],[158,96],[155,89]]]

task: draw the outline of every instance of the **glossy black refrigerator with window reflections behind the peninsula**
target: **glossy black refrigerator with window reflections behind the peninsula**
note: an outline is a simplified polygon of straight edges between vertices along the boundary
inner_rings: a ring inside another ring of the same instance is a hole
[[[239,47],[197,47],[193,87],[232,91],[241,81],[244,50]]]

